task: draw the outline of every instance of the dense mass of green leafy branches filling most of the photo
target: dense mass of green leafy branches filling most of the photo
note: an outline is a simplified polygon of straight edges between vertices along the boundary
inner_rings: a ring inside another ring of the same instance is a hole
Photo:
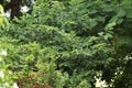
[[[125,0],[36,0],[31,14],[0,31],[0,48],[8,52],[6,69],[12,75],[8,78],[21,88],[94,88],[94,77],[101,70],[102,78],[114,80],[118,88],[130,75],[121,74],[128,66],[120,59],[128,53],[124,44],[131,43],[124,35],[131,28],[125,4]]]

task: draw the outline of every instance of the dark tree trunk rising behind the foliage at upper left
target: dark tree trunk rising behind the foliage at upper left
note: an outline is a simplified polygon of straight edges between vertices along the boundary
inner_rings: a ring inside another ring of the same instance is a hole
[[[21,12],[20,12],[20,4],[22,0],[11,0],[11,19],[14,16],[19,18]]]

